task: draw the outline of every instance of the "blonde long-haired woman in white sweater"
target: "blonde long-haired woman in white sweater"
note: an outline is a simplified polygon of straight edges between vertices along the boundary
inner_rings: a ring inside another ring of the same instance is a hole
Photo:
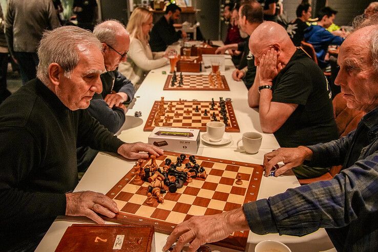
[[[119,65],[118,71],[134,84],[140,85],[148,71],[169,64],[165,52],[152,52],[149,32],[152,28],[152,12],[138,7],[130,16],[127,30],[130,32],[130,49],[127,61]]]

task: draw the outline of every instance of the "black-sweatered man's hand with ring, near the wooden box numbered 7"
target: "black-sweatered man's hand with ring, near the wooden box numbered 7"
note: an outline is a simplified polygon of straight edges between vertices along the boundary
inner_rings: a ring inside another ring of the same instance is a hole
[[[97,214],[114,218],[118,213],[117,203],[108,196],[91,191],[66,194],[66,215],[86,216],[98,224],[104,220]]]

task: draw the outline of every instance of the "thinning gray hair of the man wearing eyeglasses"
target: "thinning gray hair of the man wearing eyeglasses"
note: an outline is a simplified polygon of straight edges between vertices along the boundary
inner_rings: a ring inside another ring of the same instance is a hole
[[[93,29],[93,34],[100,40],[101,43],[108,45],[116,44],[116,35],[119,33],[120,29],[125,29],[124,25],[118,20],[109,19],[98,25]]]

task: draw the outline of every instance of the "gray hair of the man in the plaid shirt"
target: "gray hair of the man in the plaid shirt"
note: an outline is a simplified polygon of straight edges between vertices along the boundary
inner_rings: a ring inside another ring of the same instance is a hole
[[[364,15],[356,16],[352,23],[353,31],[359,30],[367,26],[376,26],[377,29],[370,33],[369,53],[372,65],[378,71],[378,14],[373,14],[368,18]]]

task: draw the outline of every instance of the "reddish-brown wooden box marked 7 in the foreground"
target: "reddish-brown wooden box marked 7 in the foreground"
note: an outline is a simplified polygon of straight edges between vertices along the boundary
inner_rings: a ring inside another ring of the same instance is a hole
[[[55,251],[155,252],[152,225],[72,224]]]

